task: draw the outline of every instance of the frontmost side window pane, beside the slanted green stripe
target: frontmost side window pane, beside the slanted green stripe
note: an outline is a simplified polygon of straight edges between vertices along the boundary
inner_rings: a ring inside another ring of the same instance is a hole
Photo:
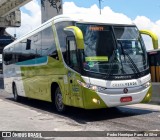
[[[58,60],[52,27],[48,27],[42,31],[42,56],[51,56]]]

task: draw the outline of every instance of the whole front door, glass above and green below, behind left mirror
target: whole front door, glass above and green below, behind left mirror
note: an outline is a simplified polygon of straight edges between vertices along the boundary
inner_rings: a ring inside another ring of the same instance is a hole
[[[76,41],[74,37],[67,37],[67,63],[70,69],[68,70],[68,83],[70,103],[73,106],[82,107],[82,89],[77,80],[80,80],[80,66],[78,62],[78,54]]]

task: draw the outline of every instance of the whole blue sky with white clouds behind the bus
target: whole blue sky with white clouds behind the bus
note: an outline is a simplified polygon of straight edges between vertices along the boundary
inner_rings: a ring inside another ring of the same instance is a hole
[[[102,14],[109,19],[131,20],[139,29],[149,29],[160,39],[160,0],[102,0],[101,5]],[[22,26],[7,29],[18,38],[41,24],[40,0],[32,0],[21,11]],[[99,14],[99,0],[63,0],[63,12]],[[144,40],[147,50],[152,49],[151,39],[144,36]]]

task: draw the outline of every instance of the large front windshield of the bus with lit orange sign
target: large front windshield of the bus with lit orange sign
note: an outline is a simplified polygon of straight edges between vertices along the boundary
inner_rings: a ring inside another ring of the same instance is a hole
[[[148,71],[145,46],[135,26],[77,23],[84,35],[83,69],[106,76]]]

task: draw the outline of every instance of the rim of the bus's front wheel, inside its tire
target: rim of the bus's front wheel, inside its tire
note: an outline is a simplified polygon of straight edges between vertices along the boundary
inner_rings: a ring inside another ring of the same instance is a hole
[[[57,92],[56,94],[56,108],[58,111],[63,111],[64,109],[64,104],[63,104],[63,100],[62,100],[62,94],[60,91]]]

